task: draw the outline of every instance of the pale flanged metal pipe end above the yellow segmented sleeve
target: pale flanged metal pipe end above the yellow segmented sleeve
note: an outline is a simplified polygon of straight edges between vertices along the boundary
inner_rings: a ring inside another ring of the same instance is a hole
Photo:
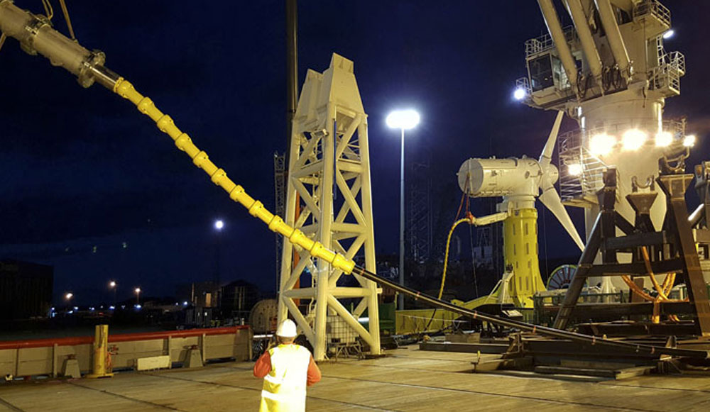
[[[20,9],[12,0],[0,0],[0,31],[20,42],[30,55],[43,55],[52,65],[64,67],[77,77],[82,87],[98,82],[113,89],[119,76],[105,68],[106,55],[100,50],[87,50],[52,28],[46,16]]]

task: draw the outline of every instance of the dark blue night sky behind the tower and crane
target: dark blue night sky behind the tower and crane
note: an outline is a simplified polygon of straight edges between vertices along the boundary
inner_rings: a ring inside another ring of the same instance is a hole
[[[16,4],[42,11],[37,0]],[[682,96],[669,99],[665,117],[688,116],[699,137],[694,165],[710,147],[710,4],[664,4],[677,33],[666,49],[687,59]],[[286,143],[283,1],[68,6],[84,47],[104,51],[107,67],[273,209],[273,152]],[[67,33],[56,9],[55,27]],[[398,251],[399,136],[384,122],[391,109],[420,111],[406,158],[429,154],[442,204],[457,204],[455,173],[466,158],[539,155],[555,114],[511,98],[525,74],[523,43],[546,30],[536,1],[302,0],[298,11],[299,87],[307,68],[327,69],[332,52],[355,63],[369,116],[378,253]],[[0,96],[0,258],[54,265],[55,301],[65,291],[79,303],[108,299],[109,279],[119,297],[134,286],[170,296],[175,284],[211,279],[217,218],[225,222],[222,279],[274,289],[273,233],[135,106],[98,85],[82,89],[16,40],[0,50]],[[574,127],[566,119],[562,131]],[[474,211],[488,204],[474,201]],[[452,221],[456,211],[439,213]],[[580,211],[572,216],[581,231]],[[550,255],[574,256],[553,219],[545,213]]]

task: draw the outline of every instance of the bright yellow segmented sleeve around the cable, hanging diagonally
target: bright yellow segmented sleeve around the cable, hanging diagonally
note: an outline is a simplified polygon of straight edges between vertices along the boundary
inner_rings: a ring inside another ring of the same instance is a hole
[[[209,160],[207,153],[198,149],[197,146],[192,143],[190,136],[186,133],[182,133],[182,131],[175,126],[170,116],[155,107],[151,99],[138,93],[138,91],[133,88],[133,84],[121,77],[116,81],[113,91],[124,99],[131,101],[131,103],[138,107],[138,111],[153,119],[158,129],[169,135],[170,138],[175,141],[175,146],[190,156],[195,166],[204,170],[214,184],[222,187],[222,189],[229,193],[230,199],[239,202],[239,204],[249,210],[251,216],[261,219],[261,221],[268,225],[271,231],[280,233],[294,245],[308,250],[313,257],[326,260],[333,265],[333,267],[341,269],[346,274],[350,274],[353,271],[355,267],[354,261],[339,253],[328,250],[322,243],[316,242],[308,238],[302,231],[288,226],[282,218],[268,211],[261,201],[253,199],[249,194],[246,194],[242,186],[232,182],[231,179],[226,176],[226,172],[224,172],[223,169],[219,169]]]

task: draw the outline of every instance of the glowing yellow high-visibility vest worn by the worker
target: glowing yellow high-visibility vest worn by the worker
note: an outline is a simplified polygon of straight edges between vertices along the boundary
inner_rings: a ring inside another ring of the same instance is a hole
[[[310,352],[300,345],[278,345],[268,351],[271,372],[264,377],[259,412],[304,412]]]

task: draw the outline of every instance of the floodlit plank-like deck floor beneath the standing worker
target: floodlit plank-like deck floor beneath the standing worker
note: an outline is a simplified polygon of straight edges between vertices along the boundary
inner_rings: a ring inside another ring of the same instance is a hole
[[[710,374],[594,382],[471,373],[470,353],[408,347],[320,364],[307,411],[710,411]],[[493,355],[484,355],[492,357]],[[0,384],[0,411],[256,411],[253,362]]]

